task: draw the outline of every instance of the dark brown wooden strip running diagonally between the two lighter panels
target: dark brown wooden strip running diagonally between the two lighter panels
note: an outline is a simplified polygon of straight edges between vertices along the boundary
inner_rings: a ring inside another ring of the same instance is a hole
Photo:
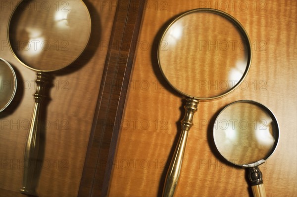
[[[107,196],[144,5],[145,0],[117,2],[79,197]]]

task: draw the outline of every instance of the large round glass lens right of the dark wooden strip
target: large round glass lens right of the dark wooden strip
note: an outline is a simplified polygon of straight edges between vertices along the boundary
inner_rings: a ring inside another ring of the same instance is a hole
[[[248,70],[247,40],[233,21],[208,11],[181,16],[158,50],[161,71],[180,93],[198,99],[228,92]]]

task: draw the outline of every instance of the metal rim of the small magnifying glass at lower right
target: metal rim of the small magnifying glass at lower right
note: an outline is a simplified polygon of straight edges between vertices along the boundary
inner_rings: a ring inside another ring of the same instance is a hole
[[[236,164],[236,163],[233,163],[231,161],[229,161],[230,158],[226,158],[221,152],[220,150],[217,148],[217,142],[215,140],[215,128],[213,127],[213,140],[214,140],[214,144],[216,146],[216,149],[218,150],[218,152],[220,153],[220,155],[225,158],[228,162],[230,163],[233,163],[237,166],[241,166],[241,167],[255,167],[255,166],[258,166],[262,163],[265,162],[266,159],[270,158],[273,153],[275,152],[276,148],[277,148],[277,145],[278,145],[278,142],[279,142],[279,139],[280,139],[280,128],[279,128],[279,124],[278,124],[278,121],[276,119],[276,117],[274,116],[274,114],[263,104],[259,103],[259,102],[256,102],[256,101],[253,101],[253,100],[240,100],[240,101],[235,101],[233,103],[230,103],[229,105],[227,105],[226,107],[224,107],[224,109],[222,109],[222,111],[219,113],[219,115],[217,116],[217,118],[215,119],[215,122],[217,122],[218,118],[220,117],[220,115],[224,112],[224,110],[228,107],[230,107],[231,105],[233,104],[237,104],[237,103],[251,103],[251,104],[254,104],[256,106],[258,106],[259,108],[262,109],[263,112],[266,112],[270,118],[272,119],[272,122],[275,124],[275,134],[276,134],[276,140],[271,148],[271,150],[269,151],[269,153],[264,157],[264,158],[261,158],[259,159],[258,161],[256,162],[253,162],[253,163],[243,163],[242,165],[240,164]]]

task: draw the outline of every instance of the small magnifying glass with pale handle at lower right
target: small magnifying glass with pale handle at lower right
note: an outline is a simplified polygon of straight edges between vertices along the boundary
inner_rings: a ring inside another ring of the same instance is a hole
[[[266,197],[258,166],[273,154],[279,141],[279,126],[273,113],[251,100],[231,103],[216,118],[213,138],[227,161],[248,168],[254,197]]]

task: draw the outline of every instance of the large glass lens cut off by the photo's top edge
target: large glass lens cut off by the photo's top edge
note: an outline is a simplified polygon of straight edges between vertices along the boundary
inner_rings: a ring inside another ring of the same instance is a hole
[[[81,0],[23,0],[13,12],[8,37],[21,62],[52,71],[78,58],[90,32],[90,15]]]

